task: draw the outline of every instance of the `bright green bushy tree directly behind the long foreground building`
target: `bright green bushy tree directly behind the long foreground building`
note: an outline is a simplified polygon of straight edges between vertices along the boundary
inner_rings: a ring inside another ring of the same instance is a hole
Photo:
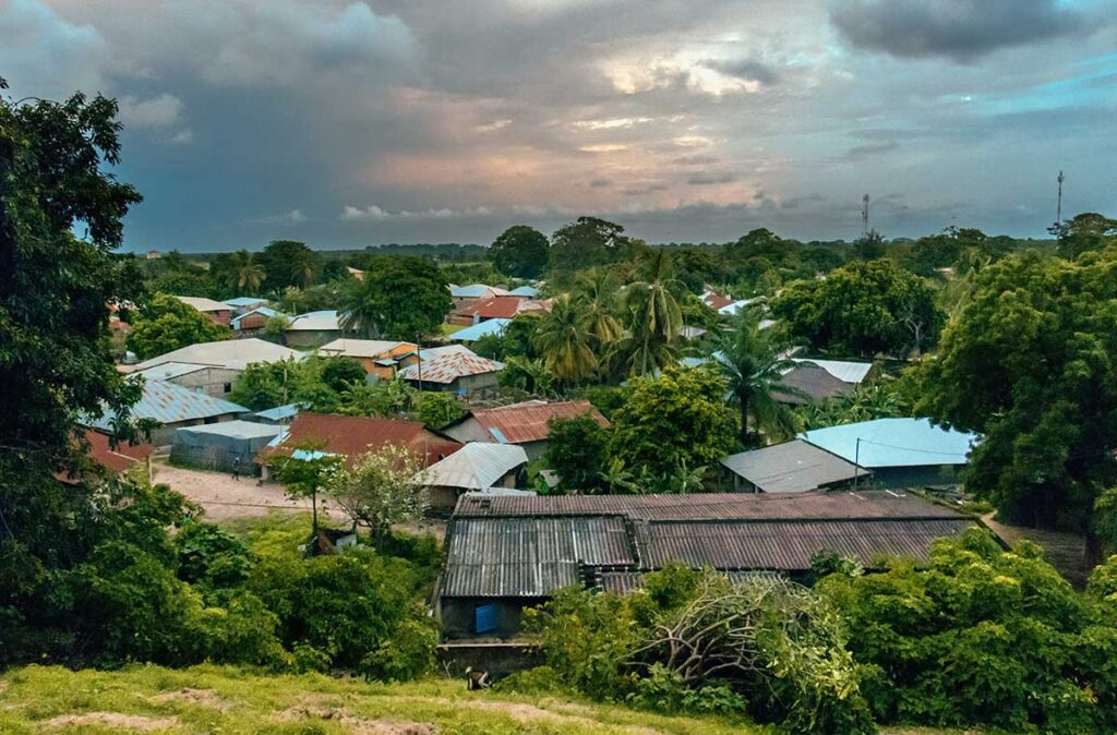
[[[725,404],[725,381],[705,367],[668,367],[637,378],[613,413],[610,455],[628,467],[667,476],[686,462],[708,466],[733,448],[736,421]]]

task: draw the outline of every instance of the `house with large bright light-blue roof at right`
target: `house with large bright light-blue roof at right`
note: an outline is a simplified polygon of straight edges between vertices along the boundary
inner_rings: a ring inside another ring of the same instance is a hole
[[[977,437],[929,419],[877,419],[814,429],[803,441],[872,470],[872,487],[955,485]]]

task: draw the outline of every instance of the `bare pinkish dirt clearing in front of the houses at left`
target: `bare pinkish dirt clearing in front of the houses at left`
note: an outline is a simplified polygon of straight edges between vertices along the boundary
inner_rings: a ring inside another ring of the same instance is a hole
[[[259,484],[255,477],[232,479],[225,472],[171,467],[155,461],[155,481],[165,483],[206,508],[210,521],[228,521],[267,515],[273,509],[309,512],[309,500],[288,500],[280,485]]]

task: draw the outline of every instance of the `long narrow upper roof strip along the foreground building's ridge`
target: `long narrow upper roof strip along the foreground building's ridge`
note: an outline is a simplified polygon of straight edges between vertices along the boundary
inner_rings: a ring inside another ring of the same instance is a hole
[[[957,518],[909,493],[696,493],[694,495],[462,496],[456,517],[623,515],[643,521],[861,521]]]

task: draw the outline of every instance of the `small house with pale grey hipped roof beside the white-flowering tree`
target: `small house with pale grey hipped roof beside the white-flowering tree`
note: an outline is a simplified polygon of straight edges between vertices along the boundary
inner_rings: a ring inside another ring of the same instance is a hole
[[[470,441],[421,474],[435,514],[449,515],[465,493],[491,494],[526,481],[527,452],[514,445]]]

